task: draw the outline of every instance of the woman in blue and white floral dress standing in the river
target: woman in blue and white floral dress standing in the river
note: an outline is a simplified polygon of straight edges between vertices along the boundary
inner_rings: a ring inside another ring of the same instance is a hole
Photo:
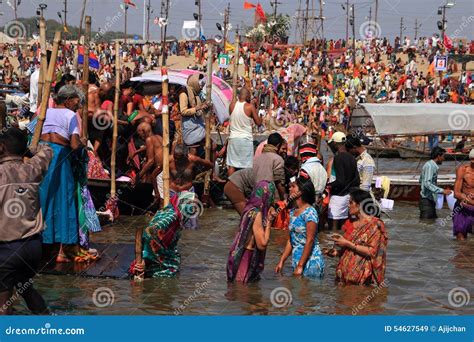
[[[317,238],[318,213],[312,206],[316,197],[311,180],[299,177],[291,183],[290,196],[296,199],[296,208],[290,211],[290,238],[280,262],[275,268],[281,273],[286,259],[291,255],[293,275],[321,278],[324,259]]]

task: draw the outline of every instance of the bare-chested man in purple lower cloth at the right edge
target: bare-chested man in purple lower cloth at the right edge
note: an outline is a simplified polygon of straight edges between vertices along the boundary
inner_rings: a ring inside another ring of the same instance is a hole
[[[472,234],[474,225],[474,149],[469,153],[470,163],[461,165],[456,171],[454,197],[457,199],[453,210],[453,234],[464,240]]]

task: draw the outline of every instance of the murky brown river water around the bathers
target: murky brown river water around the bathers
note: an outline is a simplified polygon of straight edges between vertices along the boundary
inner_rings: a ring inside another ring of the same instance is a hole
[[[417,161],[381,159],[379,170],[415,171],[417,166]],[[454,163],[445,163],[441,173],[454,173]],[[290,260],[284,276],[275,275],[274,267],[288,237],[287,232],[276,230],[272,231],[262,279],[247,286],[228,285],[226,260],[239,217],[224,209],[206,209],[200,229],[183,232],[181,271],[175,278],[136,284],[40,275],[35,286],[59,315],[474,314],[474,238],[453,240],[446,208],[438,212],[436,222],[420,222],[416,203],[396,202],[389,215],[384,217],[389,234],[385,287],[336,286],[337,260],[331,258],[326,258],[322,280],[292,277]],[[147,220],[144,216],[122,216],[93,240],[133,243],[135,228],[146,226]],[[322,246],[329,244],[325,232],[318,239]],[[105,298],[94,300],[95,291],[105,291]],[[469,294],[473,296],[470,302]],[[27,313],[22,305],[16,309]]]

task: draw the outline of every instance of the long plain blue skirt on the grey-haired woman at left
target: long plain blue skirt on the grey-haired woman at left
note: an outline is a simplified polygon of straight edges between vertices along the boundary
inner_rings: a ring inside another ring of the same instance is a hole
[[[47,144],[53,149],[54,155],[40,186],[41,209],[46,226],[43,243],[76,244],[79,226],[71,148]]]

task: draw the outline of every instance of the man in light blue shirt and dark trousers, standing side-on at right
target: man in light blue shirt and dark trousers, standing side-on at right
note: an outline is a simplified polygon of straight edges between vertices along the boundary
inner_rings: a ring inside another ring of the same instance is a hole
[[[435,219],[438,195],[449,195],[451,190],[440,188],[438,183],[439,165],[443,163],[446,150],[437,146],[431,151],[431,159],[423,165],[420,175],[420,218]]]

